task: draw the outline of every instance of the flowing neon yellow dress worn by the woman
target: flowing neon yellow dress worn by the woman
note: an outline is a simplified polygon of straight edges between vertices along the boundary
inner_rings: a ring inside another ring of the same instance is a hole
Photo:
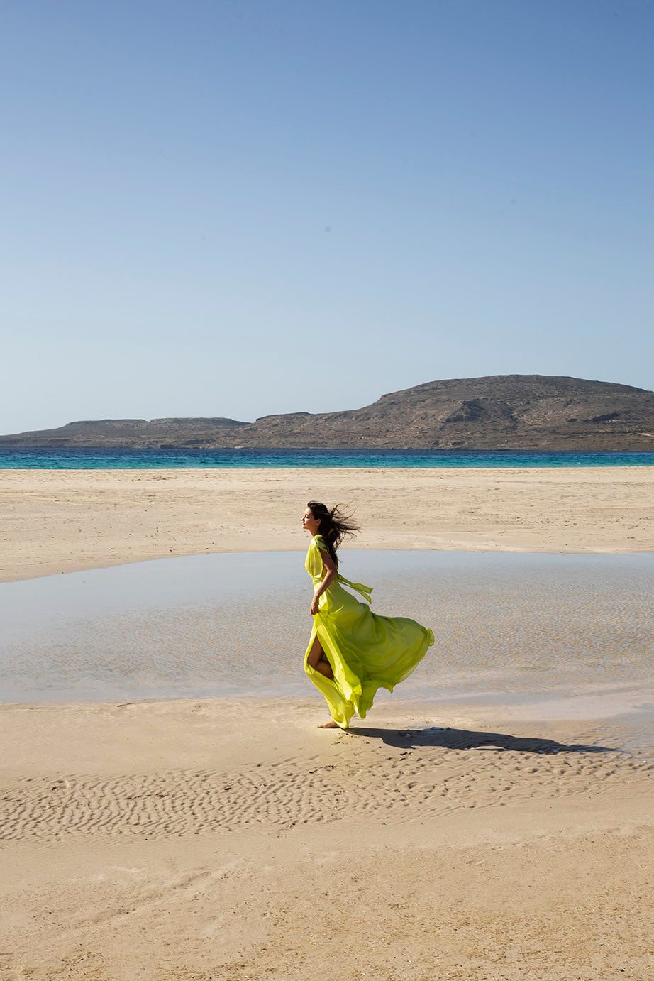
[[[321,551],[327,552],[322,535],[309,545],[305,569],[314,587],[325,579]],[[343,589],[349,586],[368,602]],[[356,712],[360,718],[373,704],[377,688],[393,691],[395,685],[411,674],[433,644],[433,634],[407,617],[377,616],[368,603],[372,588],[350,583],[338,576],[320,597],[314,629],[304,657],[304,670],[329,706],[331,718],[341,729],[347,729]],[[333,679],[326,678],[308,663],[309,652],[318,637]]]

